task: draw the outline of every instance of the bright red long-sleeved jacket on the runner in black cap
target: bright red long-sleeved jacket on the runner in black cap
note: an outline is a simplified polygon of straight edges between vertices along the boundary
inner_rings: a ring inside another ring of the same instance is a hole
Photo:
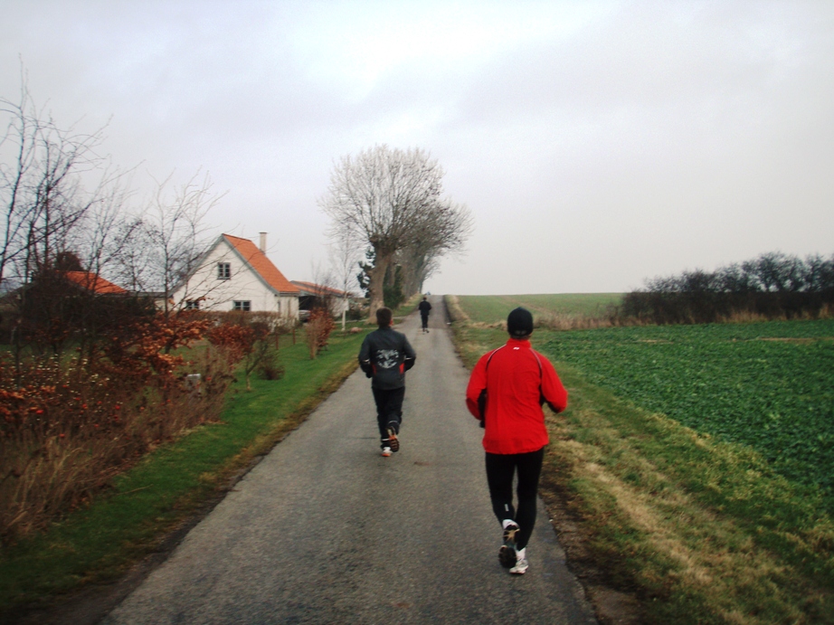
[[[469,376],[466,405],[476,419],[481,392],[487,390],[484,449],[488,453],[528,453],[550,440],[542,403],[554,412],[567,407],[567,391],[545,356],[530,341],[510,338],[507,344],[481,356]]]

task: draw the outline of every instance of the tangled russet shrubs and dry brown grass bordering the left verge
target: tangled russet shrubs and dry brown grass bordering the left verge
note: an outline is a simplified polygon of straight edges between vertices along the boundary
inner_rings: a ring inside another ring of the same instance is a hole
[[[194,349],[165,384],[79,374],[84,363],[29,361],[27,384],[0,365],[0,540],[8,542],[90,500],[157,445],[215,421],[231,382],[217,350]],[[185,375],[199,373],[194,393]]]

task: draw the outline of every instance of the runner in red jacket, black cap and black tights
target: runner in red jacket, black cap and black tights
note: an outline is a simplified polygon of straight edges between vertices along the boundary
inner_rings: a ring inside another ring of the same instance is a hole
[[[485,428],[489,497],[504,529],[498,560],[510,573],[525,573],[538,479],[549,442],[542,405],[547,402],[554,412],[564,411],[567,391],[550,361],[530,346],[533,316],[528,310],[516,308],[509,314],[507,332],[507,344],[481,356],[472,370],[466,404]]]

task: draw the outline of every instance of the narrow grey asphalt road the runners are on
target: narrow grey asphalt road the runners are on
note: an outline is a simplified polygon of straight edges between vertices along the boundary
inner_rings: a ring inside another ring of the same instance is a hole
[[[104,622],[595,622],[541,502],[529,570],[499,565],[469,374],[431,303],[431,332],[397,327],[417,352],[399,452],[379,455],[357,371]]]

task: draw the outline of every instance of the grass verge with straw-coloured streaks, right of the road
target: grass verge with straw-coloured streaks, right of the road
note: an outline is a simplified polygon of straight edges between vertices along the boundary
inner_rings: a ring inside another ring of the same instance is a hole
[[[451,298],[471,366],[506,335],[456,308]],[[560,335],[537,330],[534,346],[547,354]],[[541,494],[602,622],[629,602],[631,620],[617,622],[834,622],[834,524],[819,489],[554,364],[571,405],[548,417]]]

